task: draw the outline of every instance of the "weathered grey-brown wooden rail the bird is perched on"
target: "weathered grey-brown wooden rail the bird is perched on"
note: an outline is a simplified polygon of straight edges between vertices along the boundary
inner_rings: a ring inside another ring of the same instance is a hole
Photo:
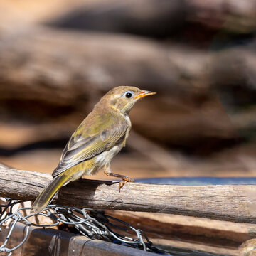
[[[0,196],[34,200],[50,174],[0,169]],[[95,209],[173,213],[252,223],[256,186],[171,186],[83,179],[60,189],[55,203]]]

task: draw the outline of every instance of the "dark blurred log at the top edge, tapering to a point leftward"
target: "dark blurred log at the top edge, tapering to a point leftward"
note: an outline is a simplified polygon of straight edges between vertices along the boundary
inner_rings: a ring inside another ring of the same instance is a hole
[[[128,0],[80,4],[53,21],[61,28],[132,33],[156,38],[171,36],[186,18],[186,1]]]

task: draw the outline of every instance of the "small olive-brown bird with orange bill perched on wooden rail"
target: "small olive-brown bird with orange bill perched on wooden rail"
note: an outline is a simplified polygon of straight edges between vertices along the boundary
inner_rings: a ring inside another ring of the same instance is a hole
[[[129,111],[139,99],[154,94],[131,86],[114,87],[107,92],[70,137],[53,171],[53,180],[36,198],[31,212],[40,213],[46,208],[61,186],[100,169],[107,176],[122,179],[119,191],[125,183],[133,182],[127,176],[113,174],[110,161],[125,146],[131,129]]]

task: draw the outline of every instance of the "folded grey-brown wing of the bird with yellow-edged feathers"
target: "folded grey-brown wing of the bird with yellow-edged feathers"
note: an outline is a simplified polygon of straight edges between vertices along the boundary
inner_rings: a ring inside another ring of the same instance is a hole
[[[97,124],[99,125],[99,124]],[[92,132],[95,127],[90,127],[82,132],[74,132],[63,150],[60,163],[53,171],[53,177],[82,161],[92,159],[103,151],[111,149],[125,138],[129,124],[124,120],[105,122],[100,132]],[[79,129],[79,127],[78,127]]]

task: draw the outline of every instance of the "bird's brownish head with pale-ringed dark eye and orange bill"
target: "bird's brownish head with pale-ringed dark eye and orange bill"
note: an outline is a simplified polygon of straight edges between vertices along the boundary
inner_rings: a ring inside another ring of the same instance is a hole
[[[154,94],[156,92],[140,90],[137,87],[119,86],[107,92],[104,98],[111,107],[114,107],[123,114],[128,114],[139,99]]]

